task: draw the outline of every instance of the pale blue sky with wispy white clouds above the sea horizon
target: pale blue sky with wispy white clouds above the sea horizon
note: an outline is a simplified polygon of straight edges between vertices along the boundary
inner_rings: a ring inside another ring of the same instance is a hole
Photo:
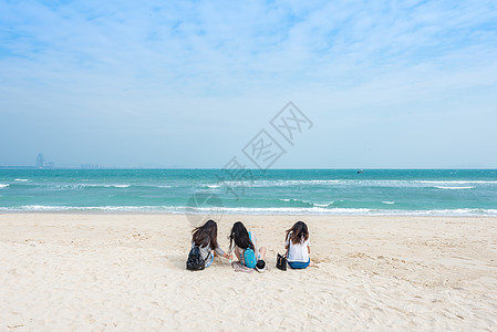
[[[494,0],[0,0],[0,165],[497,168],[496,127]]]

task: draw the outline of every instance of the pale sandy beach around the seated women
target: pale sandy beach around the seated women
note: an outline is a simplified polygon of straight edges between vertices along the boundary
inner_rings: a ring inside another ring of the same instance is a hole
[[[493,330],[497,218],[224,217],[271,271],[185,270],[191,226],[168,215],[0,215],[0,330]],[[279,271],[308,222],[315,267]]]

